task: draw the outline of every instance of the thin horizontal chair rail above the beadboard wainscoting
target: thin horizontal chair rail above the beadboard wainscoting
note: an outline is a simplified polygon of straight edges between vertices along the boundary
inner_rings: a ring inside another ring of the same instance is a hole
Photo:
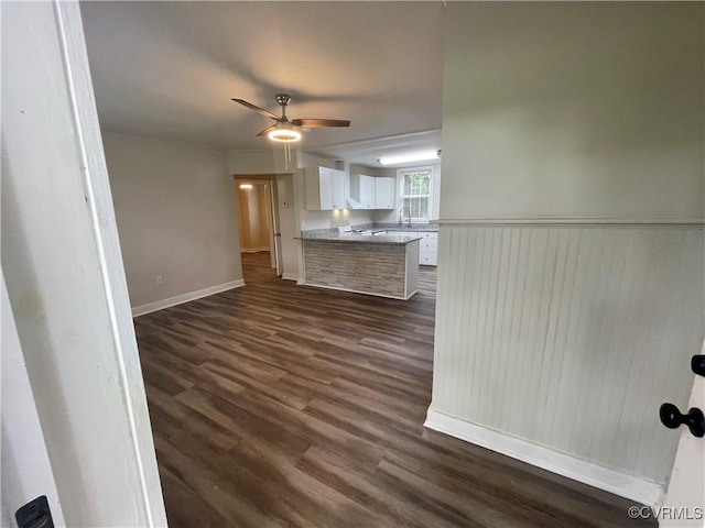
[[[589,217],[545,217],[545,218],[441,218],[430,223],[440,226],[636,226],[636,227],[705,227],[705,219],[698,218],[589,218]]]

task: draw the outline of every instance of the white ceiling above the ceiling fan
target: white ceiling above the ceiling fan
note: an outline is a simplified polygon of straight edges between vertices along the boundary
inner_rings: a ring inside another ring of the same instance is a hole
[[[441,147],[441,1],[83,2],[82,14],[107,130],[281,148],[256,138],[271,120],[230,99],[279,114],[285,92],[290,118],[351,121],[306,132],[302,150],[375,165]]]

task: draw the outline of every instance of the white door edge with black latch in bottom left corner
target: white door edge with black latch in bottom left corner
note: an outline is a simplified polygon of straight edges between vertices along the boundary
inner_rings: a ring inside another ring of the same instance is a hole
[[[46,495],[54,526],[66,526],[24,356],[2,277],[2,526],[20,506]]]

